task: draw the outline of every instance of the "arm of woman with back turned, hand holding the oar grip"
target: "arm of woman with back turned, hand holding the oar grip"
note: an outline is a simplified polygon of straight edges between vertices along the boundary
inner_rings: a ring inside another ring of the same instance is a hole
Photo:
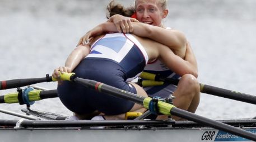
[[[90,46],[89,45],[79,45],[76,49],[74,49],[71,54],[68,55],[68,58],[65,62],[64,67],[58,67],[54,69],[52,76],[54,78],[59,78],[59,72],[72,72],[80,61],[85,58],[90,53]]]

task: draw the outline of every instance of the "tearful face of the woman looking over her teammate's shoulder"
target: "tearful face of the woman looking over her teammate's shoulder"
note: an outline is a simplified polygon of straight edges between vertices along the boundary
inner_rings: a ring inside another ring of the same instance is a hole
[[[167,10],[166,10],[167,11]],[[137,20],[154,26],[161,26],[162,18],[165,18],[159,0],[136,1]]]

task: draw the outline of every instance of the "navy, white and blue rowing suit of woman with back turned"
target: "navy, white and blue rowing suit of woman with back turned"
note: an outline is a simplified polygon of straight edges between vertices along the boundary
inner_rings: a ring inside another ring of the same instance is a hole
[[[136,78],[147,61],[145,49],[131,34],[106,34],[91,46],[90,54],[73,72],[77,77],[136,93],[136,89],[127,81]],[[78,114],[97,110],[106,115],[118,115],[131,110],[134,105],[131,101],[74,82],[64,81],[58,86],[58,94],[64,106]]]

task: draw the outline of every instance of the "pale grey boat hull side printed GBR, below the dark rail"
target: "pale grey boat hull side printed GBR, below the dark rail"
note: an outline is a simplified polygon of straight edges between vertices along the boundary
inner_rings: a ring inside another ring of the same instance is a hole
[[[256,128],[245,129],[256,133]],[[250,141],[216,129],[0,129],[0,141]]]

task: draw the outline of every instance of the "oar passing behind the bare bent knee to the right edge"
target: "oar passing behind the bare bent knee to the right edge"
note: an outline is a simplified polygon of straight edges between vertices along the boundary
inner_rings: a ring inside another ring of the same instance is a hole
[[[158,85],[162,85],[164,83],[178,85],[178,83],[179,83],[179,79],[164,78],[164,77],[161,77],[160,75],[147,73],[147,72],[142,72],[140,77],[143,79],[150,80],[150,81],[142,80],[141,82],[138,82],[139,85],[144,86],[144,87],[158,86]],[[209,86],[209,85],[202,84],[202,83],[200,83],[200,88],[201,88],[202,93],[212,94],[215,96],[230,98],[232,100],[252,103],[252,104],[256,105],[256,96],[253,96],[250,94],[245,94],[245,93],[241,93],[241,92],[237,92],[237,91],[231,91],[228,89]]]

